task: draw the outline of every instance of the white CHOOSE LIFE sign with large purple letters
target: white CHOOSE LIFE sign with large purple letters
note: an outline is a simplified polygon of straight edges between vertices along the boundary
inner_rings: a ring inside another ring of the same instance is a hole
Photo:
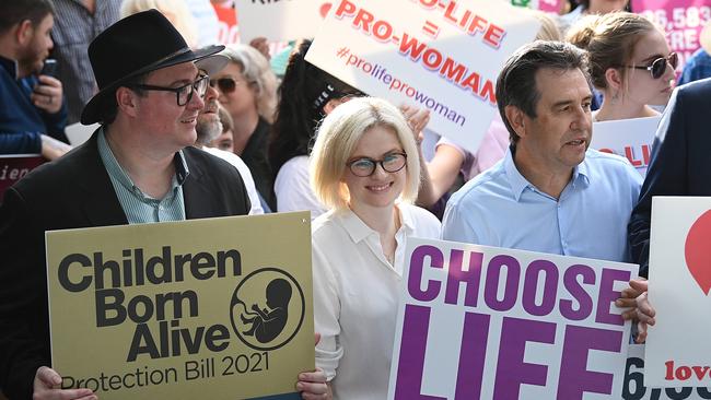
[[[621,398],[615,299],[637,266],[417,238],[406,255],[388,399]]]

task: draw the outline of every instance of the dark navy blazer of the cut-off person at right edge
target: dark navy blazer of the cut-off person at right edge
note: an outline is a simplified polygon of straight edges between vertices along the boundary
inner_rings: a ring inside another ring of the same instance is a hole
[[[656,132],[629,240],[640,274],[649,273],[650,220],[654,196],[711,196],[711,79],[679,86]]]

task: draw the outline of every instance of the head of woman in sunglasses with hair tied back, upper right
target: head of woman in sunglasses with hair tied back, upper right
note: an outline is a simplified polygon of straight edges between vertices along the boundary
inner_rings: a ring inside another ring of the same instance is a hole
[[[590,54],[593,85],[603,94],[593,120],[652,117],[674,89],[678,59],[664,33],[645,17],[616,12],[586,16],[568,40]]]

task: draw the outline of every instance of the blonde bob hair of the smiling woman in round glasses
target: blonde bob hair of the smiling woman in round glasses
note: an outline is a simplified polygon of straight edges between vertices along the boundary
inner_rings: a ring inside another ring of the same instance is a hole
[[[339,105],[318,128],[311,153],[311,185],[316,197],[331,209],[347,209],[348,187],[342,183],[346,163],[363,134],[375,127],[397,134],[407,154],[406,180],[400,199],[413,202],[420,186],[420,158],[412,130],[403,113],[388,102],[375,97],[358,97]]]

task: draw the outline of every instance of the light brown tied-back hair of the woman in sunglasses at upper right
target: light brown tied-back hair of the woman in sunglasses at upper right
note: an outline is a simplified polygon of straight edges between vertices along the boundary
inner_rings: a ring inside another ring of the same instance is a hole
[[[645,34],[658,28],[642,15],[631,12],[611,12],[581,19],[568,32],[568,42],[587,50],[590,75],[598,90],[607,89],[605,73],[619,69],[622,81],[637,43]],[[661,31],[660,31],[661,32]]]

